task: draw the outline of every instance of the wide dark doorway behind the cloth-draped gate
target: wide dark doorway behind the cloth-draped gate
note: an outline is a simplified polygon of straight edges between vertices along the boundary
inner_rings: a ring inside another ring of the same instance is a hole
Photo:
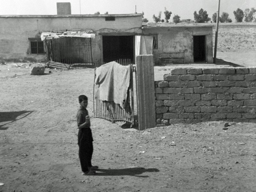
[[[133,36],[102,36],[103,62],[131,59],[133,63]]]

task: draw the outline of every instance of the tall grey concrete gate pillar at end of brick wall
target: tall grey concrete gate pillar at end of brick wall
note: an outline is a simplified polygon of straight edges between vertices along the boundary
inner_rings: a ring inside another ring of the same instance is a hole
[[[136,55],[139,130],[156,127],[153,55]]]

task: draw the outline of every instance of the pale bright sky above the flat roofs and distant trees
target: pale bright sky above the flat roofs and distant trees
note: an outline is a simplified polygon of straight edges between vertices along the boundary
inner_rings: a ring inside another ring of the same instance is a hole
[[[164,7],[180,19],[194,20],[194,11],[203,8],[212,19],[212,14],[218,10],[219,0],[0,0],[0,15],[56,15],[57,2],[70,2],[71,14],[94,14],[99,11],[104,14],[129,14],[144,12],[144,18],[153,22],[153,14],[158,15],[162,11],[164,19]],[[233,11],[237,8],[243,11],[246,8],[256,8],[256,0],[220,0],[220,15],[227,12],[229,18],[235,22]]]

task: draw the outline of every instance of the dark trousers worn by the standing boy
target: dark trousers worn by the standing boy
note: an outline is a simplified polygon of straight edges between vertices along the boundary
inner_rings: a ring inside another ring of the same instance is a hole
[[[90,128],[79,129],[78,131],[78,146],[79,159],[83,172],[88,171],[88,167],[92,166],[92,131]]]

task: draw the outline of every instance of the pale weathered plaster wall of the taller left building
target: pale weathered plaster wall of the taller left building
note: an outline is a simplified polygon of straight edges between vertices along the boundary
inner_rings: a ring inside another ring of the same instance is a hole
[[[103,15],[38,15],[0,16],[0,59],[44,60],[45,55],[30,53],[28,38],[40,37],[42,31],[66,31],[72,29],[93,30],[93,60],[100,60],[102,46],[99,33],[141,33],[141,15],[111,15],[115,21],[105,21]]]

